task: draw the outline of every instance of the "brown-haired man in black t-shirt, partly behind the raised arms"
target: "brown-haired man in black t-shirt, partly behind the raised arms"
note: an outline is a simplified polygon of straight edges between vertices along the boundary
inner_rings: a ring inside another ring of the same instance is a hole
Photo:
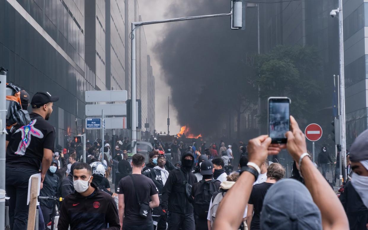
[[[285,175],[284,167],[279,163],[268,166],[267,180],[261,184],[255,184],[248,202],[247,224],[252,230],[260,229],[259,217],[263,206],[263,200],[271,185],[281,180]],[[254,213],[253,213],[254,210]]]

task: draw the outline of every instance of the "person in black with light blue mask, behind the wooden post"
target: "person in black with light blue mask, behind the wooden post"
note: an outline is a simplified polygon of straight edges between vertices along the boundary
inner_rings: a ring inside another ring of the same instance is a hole
[[[43,187],[40,190],[40,197],[55,197],[59,189],[59,177],[56,175],[57,161],[53,160],[49,170],[45,174],[45,180],[43,181]],[[52,171],[54,170],[54,171]],[[40,208],[42,211],[43,220],[45,221],[45,228],[51,221],[52,212],[55,208],[55,202],[53,200],[40,199]]]

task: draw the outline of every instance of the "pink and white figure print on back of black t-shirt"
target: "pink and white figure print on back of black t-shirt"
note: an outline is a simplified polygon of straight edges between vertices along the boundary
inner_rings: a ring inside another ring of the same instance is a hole
[[[37,119],[31,121],[31,123],[29,123],[28,125],[22,126],[15,132],[15,133],[17,132],[22,133],[22,141],[19,143],[17,152],[15,152],[16,155],[23,156],[25,154],[26,149],[31,143],[32,136],[43,138],[42,132],[34,127],[34,125],[36,124],[36,121]]]

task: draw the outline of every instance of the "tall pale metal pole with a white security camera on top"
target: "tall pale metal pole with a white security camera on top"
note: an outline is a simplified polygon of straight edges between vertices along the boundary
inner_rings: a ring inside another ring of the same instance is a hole
[[[339,0],[339,8],[330,12],[331,17],[339,14],[339,50],[340,50],[340,135],[341,135],[341,153],[340,153],[340,183],[342,183],[342,166],[346,168],[346,124],[345,124],[345,76],[344,76],[344,34],[343,34],[343,3]],[[344,157],[343,157],[344,156]],[[342,163],[344,162],[344,165]],[[344,178],[346,179],[346,178]]]

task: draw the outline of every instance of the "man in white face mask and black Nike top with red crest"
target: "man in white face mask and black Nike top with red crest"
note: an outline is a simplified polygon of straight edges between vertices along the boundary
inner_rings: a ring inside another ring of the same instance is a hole
[[[120,230],[119,216],[114,199],[100,191],[93,179],[92,168],[79,163],[73,169],[75,192],[64,198],[57,228]],[[109,228],[107,228],[109,224]]]

